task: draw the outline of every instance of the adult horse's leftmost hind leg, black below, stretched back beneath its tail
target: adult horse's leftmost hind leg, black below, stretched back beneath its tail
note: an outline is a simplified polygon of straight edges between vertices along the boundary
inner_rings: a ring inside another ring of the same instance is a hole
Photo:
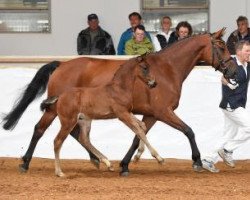
[[[38,141],[43,136],[44,132],[50,126],[56,116],[56,113],[54,113],[52,110],[46,111],[40,121],[36,124],[29,148],[26,151],[25,155],[22,157],[23,163],[19,165],[20,172],[26,172],[29,169],[29,164]]]

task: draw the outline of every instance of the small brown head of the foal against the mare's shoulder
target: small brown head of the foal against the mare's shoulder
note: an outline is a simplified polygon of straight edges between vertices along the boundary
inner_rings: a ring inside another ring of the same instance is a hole
[[[157,85],[155,77],[150,73],[150,65],[146,61],[146,56],[138,56],[137,60],[137,76],[145,82],[150,88],[153,88]]]

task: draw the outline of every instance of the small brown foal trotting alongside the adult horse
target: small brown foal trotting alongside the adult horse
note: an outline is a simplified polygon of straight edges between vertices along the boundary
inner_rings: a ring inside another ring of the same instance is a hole
[[[145,124],[131,112],[133,108],[132,93],[137,77],[147,83],[149,87],[155,86],[154,79],[149,75],[149,66],[141,56],[122,65],[115,73],[112,81],[105,86],[73,88],[58,97],[55,106],[61,122],[61,129],[54,140],[55,173],[57,176],[64,176],[60,167],[59,152],[63,141],[76,124],[80,126],[79,140],[81,144],[101,162],[104,162],[109,170],[113,171],[109,160],[89,140],[92,119],[118,118],[147,145],[151,155],[159,163],[164,161],[149,144],[145,136]],[[45,100],[41,104],[41,108],[49,109],[51,104],[53,102],[50,103],[49,100]]]

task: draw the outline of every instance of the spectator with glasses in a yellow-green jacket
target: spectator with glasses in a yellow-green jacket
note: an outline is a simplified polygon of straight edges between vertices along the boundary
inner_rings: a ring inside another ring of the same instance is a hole
[[[126,55],[142,55],[154,51],[152,42],[145,36],[145,28],[138,25],[134,28],[134,37],[125,44]]]

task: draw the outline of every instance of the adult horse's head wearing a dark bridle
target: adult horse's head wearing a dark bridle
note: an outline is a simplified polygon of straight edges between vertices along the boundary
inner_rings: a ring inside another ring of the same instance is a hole
[[[226,79],[234,79],[237,66],[227,49],[225,41],[222,40],[225,29],[211,34],[211,65],[215,70],[222,72]]]

